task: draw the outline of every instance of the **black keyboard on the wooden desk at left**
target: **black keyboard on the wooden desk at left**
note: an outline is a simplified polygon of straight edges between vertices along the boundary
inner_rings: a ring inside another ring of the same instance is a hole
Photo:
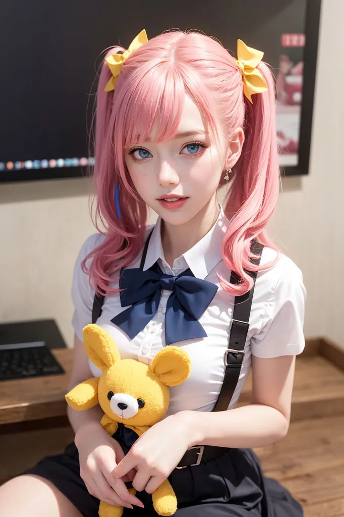
[[[0,381],[65,373],[44,341],[0,345]]]

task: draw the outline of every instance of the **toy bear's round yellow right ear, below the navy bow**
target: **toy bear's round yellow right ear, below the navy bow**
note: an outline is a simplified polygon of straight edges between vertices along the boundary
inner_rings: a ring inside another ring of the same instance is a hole
[[[191,360],[179,346],[165,346],[153,358],[150,369],[166,386],[178,386],[189,377]]]

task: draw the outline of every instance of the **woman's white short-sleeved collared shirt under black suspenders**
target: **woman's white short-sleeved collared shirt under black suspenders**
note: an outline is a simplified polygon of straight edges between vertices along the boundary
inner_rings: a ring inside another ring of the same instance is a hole
[[[221,255],[221,244],[229,224],[223,210],[212,229],[197,244],[178,257],[171,269],[166,263],[161,245],[161,219],[154,226],[149,242],[144,270],[156,261],[162,271],[169,275],[179,275],[189,268],[200,279],[208,280],[218,286],[209,307],[199,318],[207,333],[206,338],[188,339],[176,343],[189,354],[191,374],[180,386],[170,388],[170,404],[166,414],[174,414],[183,409],[211,411],[220,393],[224,372],[224,354],[228,346],[229,327],[232,318],[234,297],[222,290],[216,273],[230,278],[230,270],[225,266]],[[150,229],[147,229],[147,235]],[[97,247],[104,236],[91,235],[84,243],[77,257],[74,269],[72,298],[74,302],[73,327],[76,336],[82,340],[82,329],[91,323],[92,305],[95,291],[89,284],[89,277],[81,269],[83,258]],[[261,264],[267,264],[276,252],[264,248]],[[139,267],[138,256],[129,267]],[[118,281],[111,284],[118,288]],[[119,295],[106,297],[103,311],[97,324],[113,337],[121,358],[138,359],[151,363],[157,352],[165,346],[164,320],[167,299],[171,291],[162,291],[159,308],[148,325],[134,339],[111,320],[124,307],[120,305]],[[229,408],[236,406],[240,392],[251,369],[251,354],[260,358],[300,354],[304,348],[303,322],[306,297],[300,269],[283,254],[275,266],[258,272],[253,295],[249,330],[245,344],[239,381]],[[101,371],[90,362],[93,375]]]

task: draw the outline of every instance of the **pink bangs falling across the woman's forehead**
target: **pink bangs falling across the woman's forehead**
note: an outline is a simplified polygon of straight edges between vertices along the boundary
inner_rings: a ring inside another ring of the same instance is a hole
[[[209,92],[189,67],[184,70],[173,63],[153,63],[152,59],[132,73],[126,86],[117,99],[116,119],[118,126],[123,128],[122,147],[173,138],[180,124],[185,94],[206,116],[216,138],[214,106]]]

